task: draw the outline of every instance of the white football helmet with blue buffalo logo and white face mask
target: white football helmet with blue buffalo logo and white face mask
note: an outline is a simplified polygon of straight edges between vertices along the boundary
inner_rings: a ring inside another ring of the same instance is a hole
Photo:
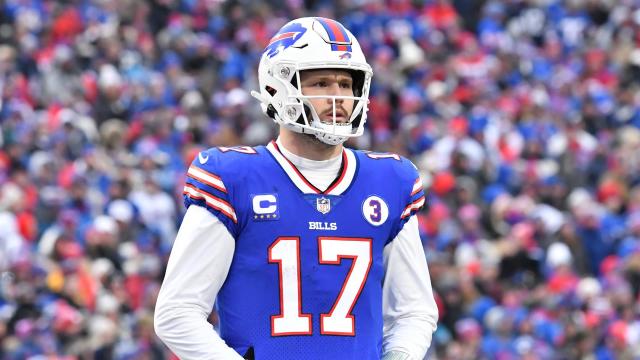
[[[354,96],[302,95],[300,71],[311,69],[349,71]],[[342,24],[320,17],[300,18],[287,23],[269,41],[258,67],[260,92],[251,94],[276,123],[338,145],[364,131],[372,75],[358,40]],[[311,98],[332,99],[332,123],[320,120]],[[340,99],[354,100],[353,112],[345,124],[336,122],[336,100]]]

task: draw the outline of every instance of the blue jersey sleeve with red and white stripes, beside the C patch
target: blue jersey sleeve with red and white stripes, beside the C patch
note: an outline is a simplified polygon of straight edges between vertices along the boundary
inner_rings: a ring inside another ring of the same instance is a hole
[[[238,215],[231,201],[231,180],[215,149],[200,152],[187,170],[183,189],[184,205],[202,206],[217,217],[234,237],[238,234]]]

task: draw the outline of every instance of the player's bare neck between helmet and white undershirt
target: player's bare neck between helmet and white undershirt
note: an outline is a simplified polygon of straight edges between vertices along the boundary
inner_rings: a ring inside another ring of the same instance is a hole
[[[279,138],[285,149],[309,160],[329,160],[342,152],[342,144],[328,145],[314,136],[299,134],[288,129],[280,129]]]

